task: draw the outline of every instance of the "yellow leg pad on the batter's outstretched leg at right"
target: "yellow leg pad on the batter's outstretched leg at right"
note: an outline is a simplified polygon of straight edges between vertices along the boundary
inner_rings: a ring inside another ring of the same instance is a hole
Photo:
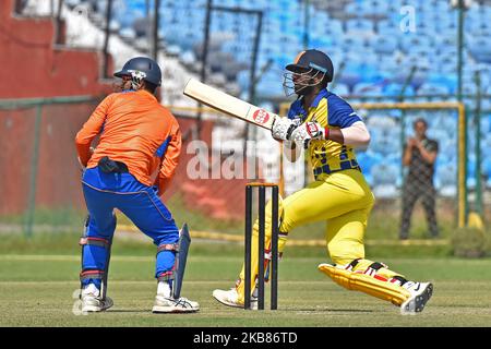
[[[334,282],[348,290],[361,291],[370,296],[390,301],[395,305],[403,304],[409,298],[409,291],[398,285],[383,281],[373,276],[337,268],[331,264],[320,264],[319,270],[327,275]]]

